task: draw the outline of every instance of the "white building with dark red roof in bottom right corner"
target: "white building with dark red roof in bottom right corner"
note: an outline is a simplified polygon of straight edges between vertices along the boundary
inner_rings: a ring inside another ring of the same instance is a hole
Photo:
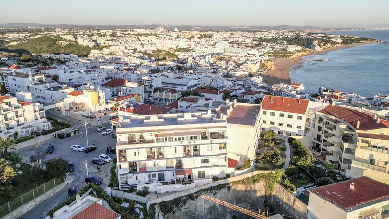
[[[308,219],[387,219],[389,185],[368,177],[309,191]]]

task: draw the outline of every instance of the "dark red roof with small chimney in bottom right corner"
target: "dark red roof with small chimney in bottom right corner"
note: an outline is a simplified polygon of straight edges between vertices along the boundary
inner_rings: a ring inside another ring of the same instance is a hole
[[[354,189],[350,189],[350,183],[352,182],[355,184]],[[345,209],[350,209],[389,197],[389,185],[368,177],[360,177],[318,187],[312,189],[311,192]]]

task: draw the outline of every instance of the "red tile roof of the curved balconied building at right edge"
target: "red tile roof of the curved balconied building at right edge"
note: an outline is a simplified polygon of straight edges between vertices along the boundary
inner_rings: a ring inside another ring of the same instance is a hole
[[[352,110],[341,106],[328,105],[319,112],[343,119],[347,123],[351,124],[354,128],[356,128],[356,125],[359,121],[359,128],[357,128],[358,130],[372,130],[389,127],[389,121],[385,120],[384,118],[380,118],[380,123],[377,123],[371,114],[359,112],[357,110]]]

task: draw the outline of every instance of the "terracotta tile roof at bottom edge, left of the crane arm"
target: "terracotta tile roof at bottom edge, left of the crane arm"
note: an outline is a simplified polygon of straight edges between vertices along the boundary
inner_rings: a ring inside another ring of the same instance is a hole
[[[80,211],[71,219],[117,219],[120,215],[96,202]]]

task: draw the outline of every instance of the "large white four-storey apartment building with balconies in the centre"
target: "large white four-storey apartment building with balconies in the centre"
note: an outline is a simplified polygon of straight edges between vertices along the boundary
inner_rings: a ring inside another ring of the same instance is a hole
[[[116,119],[119,188],[148,186],[178,179],[191,185],[214,176],[235,174],[245,159],[253,161],[259,138],[258,105],[226,102],[211,110],[178,114],[120,114]],[[250,171],[250,169],[247,169]]]

